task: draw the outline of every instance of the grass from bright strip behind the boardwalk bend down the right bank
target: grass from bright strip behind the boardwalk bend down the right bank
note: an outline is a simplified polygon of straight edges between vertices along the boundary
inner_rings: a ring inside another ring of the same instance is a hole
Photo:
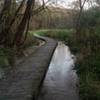
[[[74,30],[39,30],[35,33],[65,41],[77,56],[81,100],[100,100],[100,35],[89,30],[76,42]]]

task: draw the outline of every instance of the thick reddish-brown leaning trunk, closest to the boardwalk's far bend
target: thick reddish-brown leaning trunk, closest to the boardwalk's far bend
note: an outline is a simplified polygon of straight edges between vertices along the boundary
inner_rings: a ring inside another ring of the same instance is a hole
[[[22,18],[22,21],[20,22],[19,26],[18,26],[18,30],[15,34],[14,40],[13,40],[13,46],[20,46],[23,43],[23,35],[24,35],[24,30],[29,22],[30,16],[31,16],[31,10],[32,10],[32,6],[34,5],[35,0],[28,0],[27,1],[27,6],[26,6],[26,10],[24,13],[24,16]]]

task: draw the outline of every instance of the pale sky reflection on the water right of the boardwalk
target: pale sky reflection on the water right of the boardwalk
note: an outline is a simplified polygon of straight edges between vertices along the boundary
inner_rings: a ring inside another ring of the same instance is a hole
[[[73,57],[67,46],[58,44],[38,100],[79,100]]]

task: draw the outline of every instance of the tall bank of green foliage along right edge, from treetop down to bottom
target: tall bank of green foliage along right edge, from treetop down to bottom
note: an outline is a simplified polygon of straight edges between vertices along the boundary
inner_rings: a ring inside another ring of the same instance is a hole
[[[100,100],[100,8],[92,7],[81,16],[79,41],[71,41],[77,51],[76,69],[82,100]]]

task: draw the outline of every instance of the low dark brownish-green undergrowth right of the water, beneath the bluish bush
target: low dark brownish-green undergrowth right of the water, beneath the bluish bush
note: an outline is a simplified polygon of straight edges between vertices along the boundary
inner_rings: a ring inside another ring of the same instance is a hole
[[[86,30],[81,33],[80,41],[72,41],[78,56],[76,69],[80,79],[82,100],[100,100],[100,35]]]

